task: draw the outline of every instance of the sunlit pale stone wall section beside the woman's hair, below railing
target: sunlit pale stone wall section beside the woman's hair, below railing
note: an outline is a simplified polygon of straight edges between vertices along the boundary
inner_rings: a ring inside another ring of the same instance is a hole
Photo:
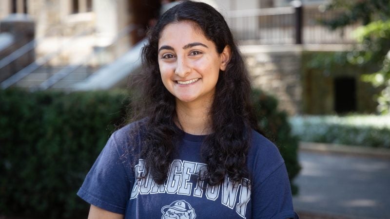
[[[253,86],[279,101],[279,108],[289,114],[301,113],[301,47],[241,46]]]

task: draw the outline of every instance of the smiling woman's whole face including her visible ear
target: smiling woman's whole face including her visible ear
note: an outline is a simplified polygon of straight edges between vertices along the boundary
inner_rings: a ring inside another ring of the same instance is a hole
[[[230,48],[217,53],[215,43],[191,21],[170,23],[158,40],[158,65],[165,88],[176,101],[211,103],[219,70],[224,71]]]

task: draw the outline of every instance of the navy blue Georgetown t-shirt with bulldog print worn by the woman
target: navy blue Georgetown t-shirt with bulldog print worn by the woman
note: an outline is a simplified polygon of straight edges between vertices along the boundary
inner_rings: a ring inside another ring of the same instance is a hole
[[[77,193],[83,200],[125,219],[298,218],[284,161],[276,146],[259,133],[252,133],[247,158],[250,188],[244,182],[248,179],[234,186],[226,177],[224,183],[202,189],[198,174],[205,166],[200,157],[205,136],[184,133],[166,183],[157,184],[150,175],[137,181],[136,176],[145,173],[143,160],[131,167],[134,153],[129,149],[137,153],[141,147],[141,133],[138,139],[130,138],[130,130],[137,126],[127,125],[110,137]]]

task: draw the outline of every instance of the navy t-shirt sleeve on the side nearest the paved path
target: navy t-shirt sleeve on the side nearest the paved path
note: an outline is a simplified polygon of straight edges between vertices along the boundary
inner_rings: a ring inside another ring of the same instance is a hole
[[[253,161],[252,218],[299,219],[292,206],[286,165],[277,147],[258,137]]]

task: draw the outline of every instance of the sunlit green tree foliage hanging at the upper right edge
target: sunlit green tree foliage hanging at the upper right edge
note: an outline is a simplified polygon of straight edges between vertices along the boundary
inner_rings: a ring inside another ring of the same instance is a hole
[[[378,66],[379,71],[364,74],[362,79],[383,88],[376,98],[378,111],[390,113],[390,0],[332,0],[327,10],[342,11],[322,21],[333,30],[356,22],[362,24],[354,31],[358,45],[346,53],[346,58],[354,65]]]

